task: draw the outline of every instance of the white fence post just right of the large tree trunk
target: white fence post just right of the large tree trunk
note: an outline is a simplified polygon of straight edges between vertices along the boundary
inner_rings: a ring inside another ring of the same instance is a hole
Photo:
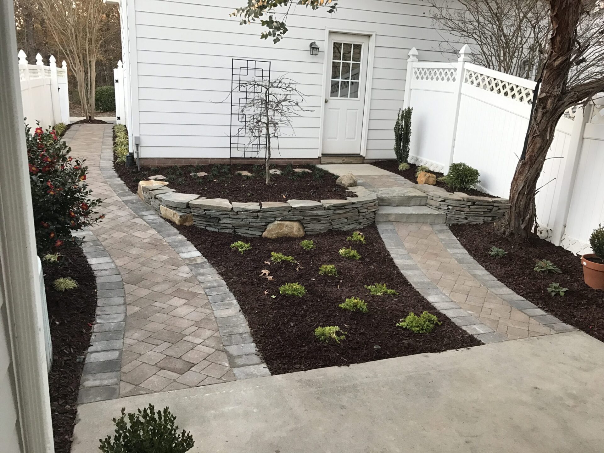
[[[561,180],[557,184],[559,190],[554,194],[554,200],[551,204],[555,211],[550,241],[554,245],[560,245],[562,236],[564,236],[570,203],[573,198],[574,182],[577,178],[577,167],[579,167],[583,147],[583,131],[585,130],[585,123],[591,118],[592,111],[593,104],[589,103],[585,108],[577,106],[577,111],[574,114],[573,129],[568,138],[568,155],[565,158],[564,171]]]

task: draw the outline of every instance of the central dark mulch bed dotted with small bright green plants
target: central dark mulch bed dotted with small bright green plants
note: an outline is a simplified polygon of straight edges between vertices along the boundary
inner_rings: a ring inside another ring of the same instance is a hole
[[[367,243],[353,245],[362,255],[358,261],[345,259],[338,250],[352,243],[350,233],[330,231],[308,236],[316,248],[305,251],[299,238],[251,239],[213,233],[195,226],[178,226],[220,272],[236,296],[252,330],[259,351],[273,374],[312,368],[350,365],[411,354],[440,352],[480,344],[474,337],[436,312],[400,274],[375,226],[365,228]],[[245,254],[230,249],[237,240],[251,243]],[[299,265],[269,263],[271,251],[293,255]],[[318,275],[323,264],[333,264],[339,278]],[[260,276],[266,269],[274,280]],[[279,294],[284,283],[298,282],[306,288],[303,297]],[[386,283],[398,296],[371,296],[365,284]],[[275,297],[273,297],[275,296]],[[347,297],[359,297],[368,313],[338,307]],[[424,310],[439,316],[442,325],[432,333],[417,334],[397,327],[409,312]],[[339,344],[315,339],[319,326],[339,326],[348,332]]]

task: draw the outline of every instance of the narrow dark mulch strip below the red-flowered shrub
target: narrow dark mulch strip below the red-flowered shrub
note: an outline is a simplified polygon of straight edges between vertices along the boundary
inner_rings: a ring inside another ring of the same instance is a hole
[[[61,252],[60,264],[42,261],[50,334],[53,340],[53,367],[48,374],[53,417],[54,451],[69,453],[76,422],[77,395],[84,357],[90,345],[91,327],[97,307],[94,273],[82,249],[69,246]],[[58,292],[53,281],[71,277],[79,288]]]

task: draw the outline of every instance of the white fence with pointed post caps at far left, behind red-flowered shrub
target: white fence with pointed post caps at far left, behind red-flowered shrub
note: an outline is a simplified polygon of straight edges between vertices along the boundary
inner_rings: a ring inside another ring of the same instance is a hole
[[[27,63],[25,52],[19,51],[19,79],[23,115],[31,127],[36,121],[44,129],[57,123],[69,123],[69,94],[67,89],[67,65],[57,68],[56,59],[50,56],[44,66],[42,56],[36,55],[36,64]]]

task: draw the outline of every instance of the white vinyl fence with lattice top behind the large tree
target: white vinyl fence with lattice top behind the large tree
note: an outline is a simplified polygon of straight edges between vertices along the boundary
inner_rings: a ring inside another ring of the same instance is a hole
[[[407,60],[405,107],[413,107],[410,162],[446,173],[453,162],[480,171],[480,187],[509,196],[522,152],[535,82],[469,63]],[[556,127],[536,196],[538,230],[573,252],[588,252],[604,223],[604,100],[568,109]]]

